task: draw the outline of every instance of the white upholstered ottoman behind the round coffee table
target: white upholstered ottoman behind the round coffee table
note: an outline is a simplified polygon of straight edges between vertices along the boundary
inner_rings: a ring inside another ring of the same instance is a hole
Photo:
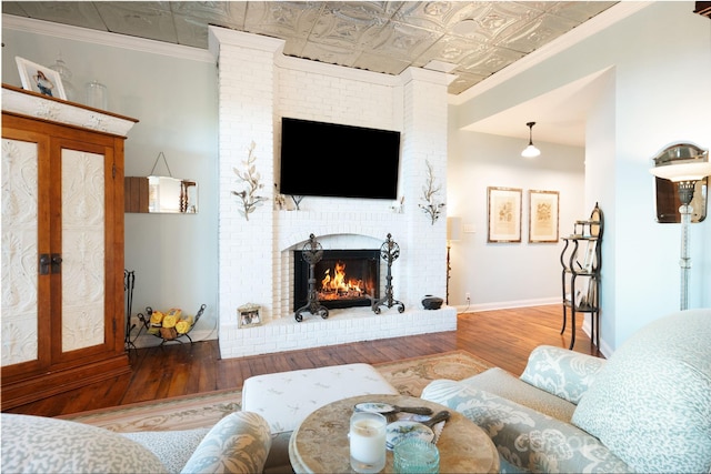
[[[398,394],[369,364],[304,369],[247,379],[242,387],[242,410],[262,415],[274,436],[264,470],[291,472],[289,437],[308,415],[337,400],[369,394]]]

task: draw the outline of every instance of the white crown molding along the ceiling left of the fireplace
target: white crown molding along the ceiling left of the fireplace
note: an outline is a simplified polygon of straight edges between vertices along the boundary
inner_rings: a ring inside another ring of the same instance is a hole
[[[90,30],[88,28],[72,27],[44,20],[34,20],[32,18],[16,17],[7,13],[2,14],[2,29],[168,56],[190,61],[214,63],[212,54],[210,54],[208,50],[200,48],[128,37],[126,34],[110,33],[108,31]]]

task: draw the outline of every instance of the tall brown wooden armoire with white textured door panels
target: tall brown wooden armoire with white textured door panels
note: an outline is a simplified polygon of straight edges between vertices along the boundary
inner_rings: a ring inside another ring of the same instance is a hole
[[[130,372],[123,141],[134,119],[2,87],[2,410]]]

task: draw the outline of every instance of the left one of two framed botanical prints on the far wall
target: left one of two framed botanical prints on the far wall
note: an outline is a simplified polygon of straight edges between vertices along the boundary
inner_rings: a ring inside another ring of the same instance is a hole
[[[487,242],[521,242],[521,190],[487,188],[489,234]]]

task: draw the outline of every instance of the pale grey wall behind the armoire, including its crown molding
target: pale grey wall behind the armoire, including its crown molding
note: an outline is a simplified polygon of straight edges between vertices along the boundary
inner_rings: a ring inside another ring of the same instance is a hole
[[[133,313],[194,314],[204,303],[191,335],[217,337],[217,71],[208,51],[10,16],[2,23],[3,83],[21,87],[16,56],[51,65],[61,53],[78,102],[98,80],[109,111],[139,120],[126,141],[126,175],[148,175],[162,151],[173,177],[198,182],[197,214],[126,214],[124,266],[136,272]]]

